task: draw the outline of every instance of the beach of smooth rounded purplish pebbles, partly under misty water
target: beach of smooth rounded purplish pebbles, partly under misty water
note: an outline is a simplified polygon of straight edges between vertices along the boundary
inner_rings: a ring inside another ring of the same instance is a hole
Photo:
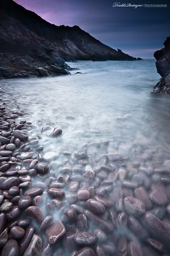
[[[40,140],[62,130],[46,124],[31,137],[29,110],[2,89],[0,97],[1,256],[168,256],[169,159],[147,167],[147,142],[138,138],[143,164],[103,141],[93,145],[97,162],[88,149],[63,151],[58,168],[57,152],[43,153]]]

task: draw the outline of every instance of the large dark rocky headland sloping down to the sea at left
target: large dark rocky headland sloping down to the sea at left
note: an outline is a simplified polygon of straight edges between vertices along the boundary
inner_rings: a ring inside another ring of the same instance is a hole
[[[0,77],[69,74],[65,61],[136,60],[78,26],[56,26],[12,0],[0,0]]]

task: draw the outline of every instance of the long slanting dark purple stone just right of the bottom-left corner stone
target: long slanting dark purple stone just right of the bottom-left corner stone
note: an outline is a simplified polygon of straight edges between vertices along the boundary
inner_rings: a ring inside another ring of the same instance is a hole
[[[34,234],[34,227],[30,226],[26,229],[25,235],[19,240],[19,254],[18,256],[23,256],[23,253],[27,249],[32,236]]]

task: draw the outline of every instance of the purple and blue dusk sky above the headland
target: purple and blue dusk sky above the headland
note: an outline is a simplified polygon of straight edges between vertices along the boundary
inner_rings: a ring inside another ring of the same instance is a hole
[[[154,58],[170,36],[170,0],[14,1],[52,24],[78,25],[102,43],[134,57]]]

